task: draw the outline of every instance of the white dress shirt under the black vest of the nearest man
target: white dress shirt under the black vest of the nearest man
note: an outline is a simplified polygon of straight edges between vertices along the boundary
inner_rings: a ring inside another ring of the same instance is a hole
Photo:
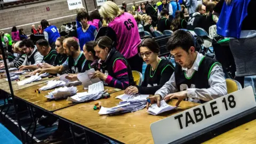
[[[198,70],[199,63],[203,58],[204,55],[197,52],[197,57],[195,62],[193,63],[193,66],[190,69],[182,68],[182,70],[185,70],[187,77],[191,77],[194,72]],[[198,79],[198,81],[200,81],[200,79]],[[208,82],[210,85],[208,89],[188,88],[187,96],[189,98],[189,101],[199,102],[199,99],[204,101],[210,101],[227,94],[226,79],[221,65],[216,64],[213,66]],[[161,95],[162,99],[164,99],[167,94],[175,93],[177,91],[178,89],[173,73],[170,80],[166,82],[161,89],[156,91],[155,94]]]

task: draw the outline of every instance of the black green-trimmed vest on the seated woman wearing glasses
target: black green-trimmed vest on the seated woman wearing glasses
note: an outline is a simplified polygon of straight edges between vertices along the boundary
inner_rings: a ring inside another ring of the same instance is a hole
[[[160,80],[162,77],[163,71],[167,68],[171,67],[172,71],[170,71],[170,76],[174,72],[174,66],[169,60],[162,59],[159,63],[157,68],[153,71],[151,65],[147,65],[146,70],[145,70],[145,77],[144,81],[148,84],[148,87],[151,86],[157,86],[160,84]],[[169,80],[169,79],[168,79]]]

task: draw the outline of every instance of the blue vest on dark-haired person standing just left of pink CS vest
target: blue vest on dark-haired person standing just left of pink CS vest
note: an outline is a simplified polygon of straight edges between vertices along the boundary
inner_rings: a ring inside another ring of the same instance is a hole
[[[77,37],[78,37],[78,40],[79,40],[79,46],[80,46],[80,49],[82,51],[83,51],[83,46],[84,46],[85,43],[94,40],[94,31],[96,29],[97,29],[96,27],[90,25],[85,33],[84,33],[82,27],[80,27],[76,30],[77,31]]]

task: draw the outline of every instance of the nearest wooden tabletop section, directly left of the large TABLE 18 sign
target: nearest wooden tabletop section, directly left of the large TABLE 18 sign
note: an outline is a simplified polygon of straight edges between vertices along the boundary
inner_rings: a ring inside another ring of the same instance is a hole
[[[115,99],[115,97],[123,93],[124,91],[115,92],[110,94],[111,97],[108,99],[81,103],[72,107],[57,110],[53,114],[68,122],[85,127],[85,129],[98,132],[103,137],[111,138],[119,142],[154,143],[150,131],[151,123],[199,105],[199,103],[182,101],[180,103],[180,108],[177,110],[166,111],[158,116],[150,115],[147,113],[146,108],[134,113],[125,113],[113,116],[100,116],[98,114],[99,110],[93,110],[95,102],[99,102],[103,107],[116,106],[121,100]],[[170,101],[169,105],[174,106],[176,102],[177,100]]]

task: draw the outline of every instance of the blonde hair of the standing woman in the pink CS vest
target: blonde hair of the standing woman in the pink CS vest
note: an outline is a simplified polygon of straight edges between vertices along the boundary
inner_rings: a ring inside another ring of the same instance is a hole
[[[99,13],[101,17],[107,21],[113,21],[118,15],[122,14],[119,7],[111,1],[105,2],[100,7]]]

